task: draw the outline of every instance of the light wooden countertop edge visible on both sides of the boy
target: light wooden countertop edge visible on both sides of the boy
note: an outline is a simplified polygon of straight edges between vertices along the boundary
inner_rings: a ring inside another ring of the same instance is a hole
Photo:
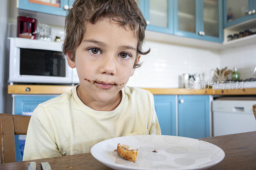
[[[68,85],[8,85],[9,94],[62,94],[68,92],[74,86]],[[29,89],[26,91],[26,89]],[[188,94],[206,94],[206,95],[256,95],[256,88],[246,89],[191,89],[185,88],[142,88],[150,91],[152,94],[173,94],[173,95],[188,95]]]

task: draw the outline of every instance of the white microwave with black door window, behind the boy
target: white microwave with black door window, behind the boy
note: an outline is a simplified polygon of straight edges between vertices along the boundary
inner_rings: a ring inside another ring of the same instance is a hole
[[[60,42],[10,39],[9,82],[78,84]]]

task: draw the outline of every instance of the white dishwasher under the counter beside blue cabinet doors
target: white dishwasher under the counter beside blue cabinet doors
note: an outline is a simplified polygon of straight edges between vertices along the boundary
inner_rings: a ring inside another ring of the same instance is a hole
[[[255,131],[253,104],[256,100],[213,100],[213,136]]]

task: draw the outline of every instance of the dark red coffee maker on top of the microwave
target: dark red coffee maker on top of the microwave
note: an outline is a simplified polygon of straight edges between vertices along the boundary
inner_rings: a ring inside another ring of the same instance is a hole
[[[22,16],[19,16],[17,20],[17,37],[36,39],[36,33],[34,32],[36,31],[37,20]]]

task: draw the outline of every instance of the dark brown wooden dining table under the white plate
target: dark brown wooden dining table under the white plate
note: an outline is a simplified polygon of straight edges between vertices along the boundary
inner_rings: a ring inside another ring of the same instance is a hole
[[[225,158],[219,164],[212,167],[211,170],[256,169],[256,131],[217,137],[207,137],[200,140],[204,140],[219,146],[226,154]],[[68,170],[70,167],[72,167],[72,170],[110,169],[93,158],[91,153],[1,164],[0,169],[28,169],[28,163],[32,161],[37,163],[37,170],[41,169],[39,165],[41,162],[49,162],[53,170]]]

